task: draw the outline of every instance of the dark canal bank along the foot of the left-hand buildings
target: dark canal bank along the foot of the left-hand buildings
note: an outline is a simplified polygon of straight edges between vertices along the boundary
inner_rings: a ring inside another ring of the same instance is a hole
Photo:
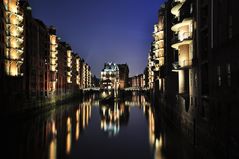
[[[68,92],[61,95],[51,95],[48,97],[27,98],[23,94],[17,94],[12,98],[3,99],[2,118],[26,118],[54,109],[55,107],[71,102],[81,102],[84,96],[88,97],[91,92],[81,90]],[[14,99],[14,100],[13,100]]]

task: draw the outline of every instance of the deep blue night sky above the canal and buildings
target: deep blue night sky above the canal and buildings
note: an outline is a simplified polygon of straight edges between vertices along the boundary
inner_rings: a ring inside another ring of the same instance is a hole
[[[33,16],[54,25],[57,35],[99,77],[105,62],[127,63],[143,72],[153,25],[163,0],[29,0]]]

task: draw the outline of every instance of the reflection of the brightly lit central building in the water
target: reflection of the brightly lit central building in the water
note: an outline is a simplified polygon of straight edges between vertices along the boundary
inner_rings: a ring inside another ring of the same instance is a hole
[[[109,136],[116,136],[120,131],[120,126],[128,124],[129,107],[124,103],[114,103],[114,106],[100,106],[102,130],[108,133]]]

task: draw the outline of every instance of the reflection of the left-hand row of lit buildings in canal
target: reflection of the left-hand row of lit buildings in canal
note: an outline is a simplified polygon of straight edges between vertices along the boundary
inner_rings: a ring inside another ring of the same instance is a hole
[[[83,116],[84,114],[84,116]],[[67,158],[91,118],[91,101],[65,105],[7,125],[8,158]],[[83,125],[84,128],[83,128]]]

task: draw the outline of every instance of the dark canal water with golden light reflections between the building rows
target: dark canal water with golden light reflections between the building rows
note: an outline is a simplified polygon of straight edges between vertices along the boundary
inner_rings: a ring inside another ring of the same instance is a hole
[[[7,125],[2,131],[6,158],[195,158],[191,146],[166,126],[144,96],[114,105],[90,98]]]

